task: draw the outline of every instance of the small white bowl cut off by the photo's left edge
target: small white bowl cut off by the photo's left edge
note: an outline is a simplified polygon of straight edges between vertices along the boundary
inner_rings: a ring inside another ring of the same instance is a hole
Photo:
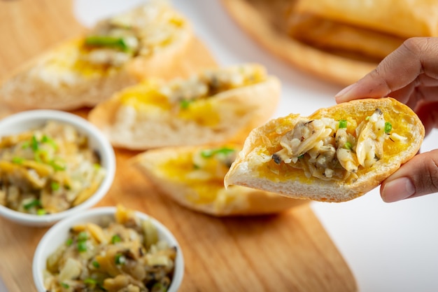
[[[15,113],[12,116],[0,120],[0,137],[33,129],[45,124],[48,120],[55,120],[61,123],[73,125],[80,133],[86,134],[90,147],[99,153],[101,166],[106,169],[106,176],[97,191],[90,198],[85,200],[85,202],[59,213],[38,216],[15,211],[0,205],[0,216],[22,225],[52,225],[66,216],[71,216],[78,211],[93,207],[106,195],[113,183],[115,175],[115,154],[108,139],[99,129],[97,129],[97,127],[92,125],[92,123],[85,120],[85,118],[74,115],[73,113],[56,110],[33,110]]]

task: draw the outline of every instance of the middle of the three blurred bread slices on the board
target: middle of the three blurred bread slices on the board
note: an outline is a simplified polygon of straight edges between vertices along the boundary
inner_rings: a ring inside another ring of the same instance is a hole
[[[178,99],[184,91],[169,93],[174,84],[182,84],[191,98],[197,96],[192,93],[199,86],[211,88],[218,79],[239,79],[239,74],[245,76],[243,83],[218,92],[208,90],[191,100]],[[278,78],[267,75],[259,64],[213,68],[182,80],[146,81],[126,88],[94,107],[88,119],[113,146],[132,150],[243,141],[250,130],[271,118],[280,90]]]

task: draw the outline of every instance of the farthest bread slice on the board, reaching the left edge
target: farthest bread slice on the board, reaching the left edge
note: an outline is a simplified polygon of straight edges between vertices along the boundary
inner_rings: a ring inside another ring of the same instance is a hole
[[[155,18],[151,15],[155,15]],[[136,34],[139,46],[134,55],[113,47],[85,45],[87,36],[112,34],[111,29],[107,32],[99,27],[114,27],[115,22],[133,27],[127,29],[129,34],[134,31],[143,32],[143,35]],[[166,35],[169,39],[153,45],[148,37],[152,35],[157,38],[163,34],[163,29],[170,31]],[[149,1],[131,11],[101,20],[90,32],[64,41],[17,68],[1,83],[0,102],[8,104],[14,111],[71,110],[94,106],[108,99],[113,92],[146,76],[175,77],[178,62],[181,62],[195,41],[190,22],[183,15],[165,1]],[[153,50],[145,53],[146,48]],[[98,50],[99,54],[96,53]],[[97,59],[105,59],[103,56],[108,55],[122,55],[124,59],[114,57],[111,61],[100,60],[97,64]]]

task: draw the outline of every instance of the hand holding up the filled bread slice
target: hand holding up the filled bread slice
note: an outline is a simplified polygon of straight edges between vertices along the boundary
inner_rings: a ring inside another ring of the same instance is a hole
[[[438,127],[438,38],[418,37],[400,48],[358,82],[341,90],[336,102],[394,97],[413,109],[426,134]],[[421,153],[381,184],[381,197],[395,202],[438,192],[438,150]]]

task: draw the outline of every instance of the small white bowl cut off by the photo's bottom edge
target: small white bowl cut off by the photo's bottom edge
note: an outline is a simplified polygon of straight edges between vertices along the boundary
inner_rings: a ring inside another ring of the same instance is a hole
[[[45,233],[41,241],[36,246],[34,253],[34,260],[32,263],[32,274],[34,276],[34,283],[38,292],[46,292],[43,281],[43,271],[45,270],[46,260],[51,253],[53,253],[61,244],[64,244],[69,238],[69,230],[73,225],[80,223],[96,223],[105,221],[104,218],[111,218],[114,220],[116,208],[115,207],[97,207],[86,211],[81,211],[79,214],[64,218],[53,225],[48,232]],[[184,275],[184,258],[181,251],[181,246],[172,235],[172,233],[155,218],[152,218],[144,213],[136,211],[136,216],[141,220],[152,221],[155,228],[157,228],[159,239],[168,242],[170,246],[176,246],[176,259],[174,268],[174,277],[167,292],[176,292],[181,286]]]

